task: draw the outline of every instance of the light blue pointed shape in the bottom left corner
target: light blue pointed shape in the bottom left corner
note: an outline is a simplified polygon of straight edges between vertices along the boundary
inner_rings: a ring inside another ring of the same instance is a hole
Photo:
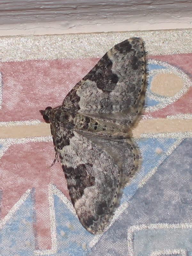
[[[1,256],[32,256],[34,250],[33,200],[29,196],[1,229],[0,254]]]

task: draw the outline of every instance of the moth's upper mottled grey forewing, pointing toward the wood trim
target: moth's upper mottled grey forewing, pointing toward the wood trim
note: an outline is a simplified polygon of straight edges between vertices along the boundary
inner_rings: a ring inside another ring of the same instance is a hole
[[[63,107],[84,115],[134,123],[146,92],[146,52],[141,38],[111,48],[68,93]]]

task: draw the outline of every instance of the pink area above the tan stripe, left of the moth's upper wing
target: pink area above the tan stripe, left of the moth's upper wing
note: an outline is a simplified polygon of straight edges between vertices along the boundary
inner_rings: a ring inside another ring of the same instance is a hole
[[[42,120],[39,109],[61,105],[70,89],[97,61],[29,60],[0,63],[3,76],[0,122]]]

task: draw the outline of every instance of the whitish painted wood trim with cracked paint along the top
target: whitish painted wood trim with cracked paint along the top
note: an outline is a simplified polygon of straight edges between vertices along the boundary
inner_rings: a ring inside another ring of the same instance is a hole
[[[192,1],[0,2],[0,36],[192,28]]]

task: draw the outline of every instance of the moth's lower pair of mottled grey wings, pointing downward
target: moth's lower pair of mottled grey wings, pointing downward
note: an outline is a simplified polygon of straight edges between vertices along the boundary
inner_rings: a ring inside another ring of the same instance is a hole
[[[89,232],[100,233],[118,204],[125,179],[137,169],[138,152],[131,140],[98,136],[90,140],[62,128],[58,136],[58,153],[76,214]]]

